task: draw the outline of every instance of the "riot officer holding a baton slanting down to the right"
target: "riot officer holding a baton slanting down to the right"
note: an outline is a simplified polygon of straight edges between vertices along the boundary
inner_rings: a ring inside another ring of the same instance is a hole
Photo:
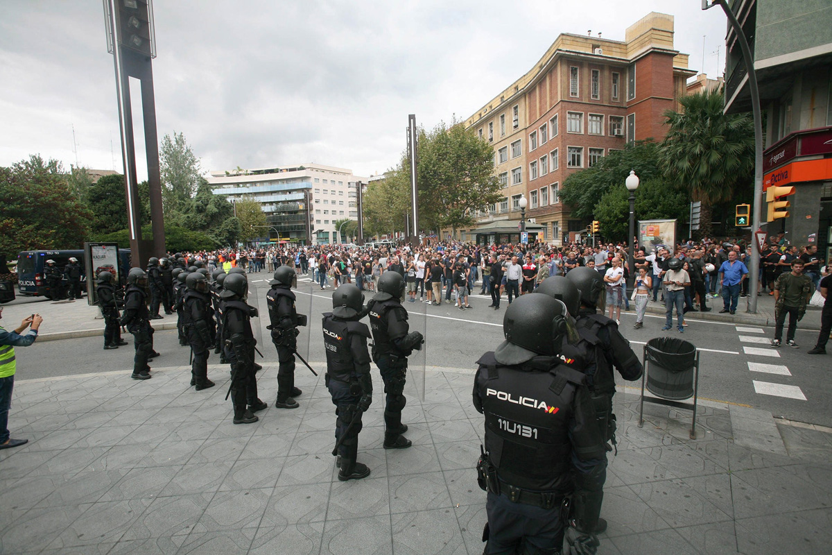
[[[295,397],[303,392],[295,387],[295,352],[298,349],[297,326],[306,325],[306,316],[295,310],[295,293],[292,292],[292,278],[295,270],[280,266],[275,270],[275,279],[269,282],[271,289],[265,294],[269,305],[271,341],[277,349],[280,367],[277,370],[278,409],[297,409],[300,405]]]

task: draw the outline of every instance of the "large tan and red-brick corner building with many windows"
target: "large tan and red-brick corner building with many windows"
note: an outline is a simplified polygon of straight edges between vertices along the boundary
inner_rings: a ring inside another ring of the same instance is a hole
[[[563,181],[628,141],[661,141],[662,113],[679,108],[686,80],[696,74],[687,58],[673,47],[673,16],[662,13],[628,27],[624,41],[559,35],[532,70],[465,120],[494,145],[503,199],[477,211],[477,227],[459,230],[458,238],[518,240],[522,196],[528,223],[539,226],[530,240],[560,245],[586,228],[560,200]],[[503,220],[515,222],[493,223]]]

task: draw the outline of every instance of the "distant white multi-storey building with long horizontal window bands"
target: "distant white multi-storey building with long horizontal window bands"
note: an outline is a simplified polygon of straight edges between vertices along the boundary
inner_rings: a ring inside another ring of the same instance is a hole
[[[207,180],[215,194],[228,196],[231,202],[242,198],[260,202],[267,227],[258,242],[313,245],[340,239],[335,221],[358,219],[354,183],[367,178],[354,176],[349,169],[310,163],[210,171]]]

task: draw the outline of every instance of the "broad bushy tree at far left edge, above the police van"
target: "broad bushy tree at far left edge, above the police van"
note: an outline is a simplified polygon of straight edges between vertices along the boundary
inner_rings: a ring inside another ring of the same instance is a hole
[[[29,156],[0,166],[0,253],[80,249],[92,214],[72,195],[60,162]]]

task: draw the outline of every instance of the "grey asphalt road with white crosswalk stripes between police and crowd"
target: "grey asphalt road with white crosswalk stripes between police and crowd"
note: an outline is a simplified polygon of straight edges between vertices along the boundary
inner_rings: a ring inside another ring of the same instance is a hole
[[[277,356],[270,344],[269,331],[265,330],[268,325],[266,290],[268,285],[265,280],[253,281],[249,303],[257,305],[262,316],[258,319],[260,326],[255,326],[255,334],[258,334],[258,346],[265,354],[265,360],[261,362],[266,368],[264,374],[258,375],[260,389],[266,391],[261,397],[270,399],[273,396],[271,390],[276,392]],[[332,290],[322,291],[317,285],[301,281],[296,292],[298,311],[310,315],[310,326],[298,338],[299,351],[301,354],[308,352],[307,359],[322,374],[324,349],[319,319],[322,313],[331,310]],[[472,296],[470,303],[473,308],[470,310],[458,310],[445,303],[442,306],[404,303],[410,313],[411,329],[422,331],[426,338],[423,351],[411,358],[411,368],[427,364],[428,367],[471,369],[473,372],[474,363],[483,352],[493,350],[503,340],[503,315],[508,302],[503,298],[499,311],[488,308],[490,302],[490,298]],[[806,354],[815,344],[817,332],[798,330],[796,340],[800,349],[786,346],[771,349],[768,340],[773,337],[772,328],[690,320],[686,333],[679,334],[675,329],[661,331],[664,325],[664,318],[661,317],[647,315],[645,327],[641,330],[632,329],[634,322],[633,313],[624,315],[621,330],[640,358],[647,340],[668,334],[686,339],[700,349],[701,399],[748,405],[768,410],[778,417],[832,426],[832,413],[827,409],[827,399],[832,394],[832,359],[829,355]],[[158,331],[155,338],[156,350],[161,357],[151,366],[161,368],[188,363],[189,351],[179,346],[176,331]],[[126,339],[132,344],[129,334]],[[17,349],[18,379],[110,370],[124,370],[128,374],[132,364],[132,346],[102,350],[102,345],[102,338],[95,337],[47,341]],[[746,353],[747,348],[760,350]],[[218,363],[219,356],[211,354],[209,364]],[[209,375],[219,371],[223,370],[210,366]],[[299,362],[296,371],[307,370]],[[641,385],[640,382],[626,384],[620,379],[619,384],[636,388]],[[632,389],[631,392],[637,393],[637,390]]]

